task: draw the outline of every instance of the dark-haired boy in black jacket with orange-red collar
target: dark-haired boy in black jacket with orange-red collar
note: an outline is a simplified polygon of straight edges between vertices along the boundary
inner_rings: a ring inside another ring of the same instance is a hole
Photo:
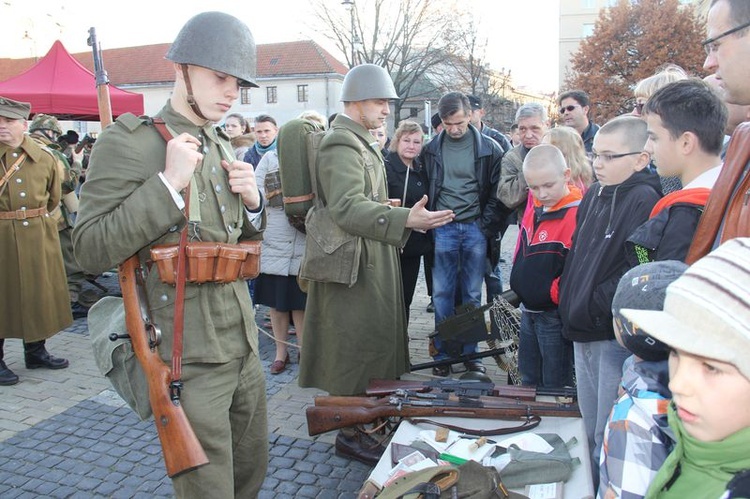
[[[643,108],[648,124],[646,150],[662,177],[679,177],[683,188],[664,196],[628,238],[631,264],[684,261],[695,229],[721,171],[727,109],[703,81],[670,83]]]

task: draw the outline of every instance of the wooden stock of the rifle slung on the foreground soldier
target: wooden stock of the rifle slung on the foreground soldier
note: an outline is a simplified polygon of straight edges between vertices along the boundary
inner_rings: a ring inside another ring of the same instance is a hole
[[[159,357],[154,341],[153,324],[144,320],[138,293],[138,273],[141,272],[138,255],[133,255],[120,265],[119,278],[125,304],[125,322],[133,345],[133,352],[141,364],[148,381],[148,395],[154,412],[156,431],[159,434],[167,475],[177,475],[208,464],[208,457],[193,428],[185,416],[179,399],[172,400],[169,383],[170,368]],[[149,331],[151,328],[151,331]]]

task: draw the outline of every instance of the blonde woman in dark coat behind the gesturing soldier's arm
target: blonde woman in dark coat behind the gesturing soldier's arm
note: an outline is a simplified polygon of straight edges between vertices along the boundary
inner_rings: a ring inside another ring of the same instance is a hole
[[[401,206],[411,208],[427,194],[429,182],[427,172],[419,164],[424,134],[422,127],[414,121],[402,121],[396,129],[390,152],[385,159],[388,197],[399,199]],[[432,239],[424,232],[412,231],[401,251],[401,276],[403,279],[406,317],[414,297],[422,255],[432,251]]]

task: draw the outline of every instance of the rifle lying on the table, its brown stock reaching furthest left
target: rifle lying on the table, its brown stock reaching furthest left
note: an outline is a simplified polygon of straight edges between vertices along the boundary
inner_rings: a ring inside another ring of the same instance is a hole
[[[525,419],[539,416],[580,417],[577,404],[530,402],[500,397],[423,398],[399,392],[391,397],[316,397],[306,410],[310,436],[373,423],[392,417],[458,417],[482,419]]]

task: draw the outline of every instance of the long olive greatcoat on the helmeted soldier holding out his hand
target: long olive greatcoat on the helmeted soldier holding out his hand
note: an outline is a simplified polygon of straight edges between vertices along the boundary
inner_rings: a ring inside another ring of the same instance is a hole
[[[365,168],[375,169],[377,185]],[[363,238],[362,254],[354,286],[309,284],[299,384],[359,394],[370,378],[393,379],[409,370],[399,263],[399,247],[411,234],[409,210],[382,203],[388,195],[377,142],[341,114],[320,145],[318,195],[339,227]]]

